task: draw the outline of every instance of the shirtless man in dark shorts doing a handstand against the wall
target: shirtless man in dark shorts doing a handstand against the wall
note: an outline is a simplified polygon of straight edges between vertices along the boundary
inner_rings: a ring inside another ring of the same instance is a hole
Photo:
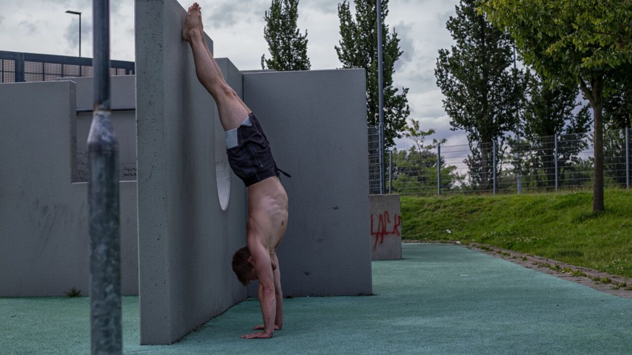
[[[257,118],[228,86],[204,40],[202,16],[197,3],[186,14],[182,37],[191,45],[198,80],[217,104],[226,131],[226,153],[233,171],[248,186],[248,245],[233,256],[233,271],[245,286],[259,280],[262,330],[242,338],[270,338],[283,327],[283,292],[276,249],[288,227],[288,195],[270,146]],[[283,171],[281,171],[283,172]],[[284,173],[285,174],[285,173]],[[287,174],[286,174],[287,175]]]

